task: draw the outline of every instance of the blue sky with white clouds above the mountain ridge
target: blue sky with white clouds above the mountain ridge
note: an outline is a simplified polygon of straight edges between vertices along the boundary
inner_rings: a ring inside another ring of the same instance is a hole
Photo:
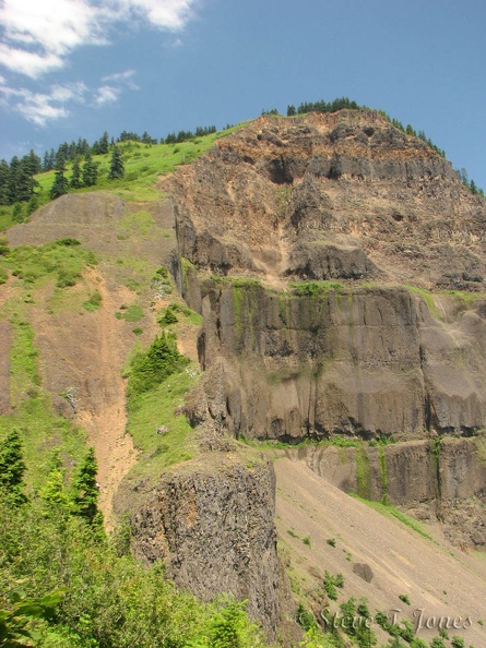
[[[0,158],[346,96],[486,190],[485,0],[0,0]]]

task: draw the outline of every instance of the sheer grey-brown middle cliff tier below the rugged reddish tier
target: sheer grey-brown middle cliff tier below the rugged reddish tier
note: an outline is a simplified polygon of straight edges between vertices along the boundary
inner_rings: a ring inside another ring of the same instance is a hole
[[[200,298],[200,359],[221,368],[218,416],[233,435],[410,440],[484,427],[483,300],[458,299],[444,321],[400,286],[291,295],[208,281]]]

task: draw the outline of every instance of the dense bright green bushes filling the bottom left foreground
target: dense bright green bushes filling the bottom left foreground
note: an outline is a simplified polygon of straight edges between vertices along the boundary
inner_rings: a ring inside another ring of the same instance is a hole
[[[68,485],[59,483],[67,495]],[[264,645],[245,602],[203,605],[163,566],[72,515],[70,497],[13,505],[0,494],[0,645],[39,648],[215,648]],[[34,641],[34,644],[33,644]]]

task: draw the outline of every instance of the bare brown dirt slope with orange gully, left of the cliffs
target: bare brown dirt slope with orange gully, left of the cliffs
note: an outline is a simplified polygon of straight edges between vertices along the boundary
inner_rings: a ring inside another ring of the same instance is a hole
[[[49,284],[36,290],[31,309],[35,345],[40,352],[43,384],[55,409],[78,422],[86,431],[88,444],[95,447],[99,505],[111,529],[112,497],[137,461],[137,449],[126,434],[122,365],[138,339],[146,346],[159,331],[151,307],[157,299],[151,277],[157,267],[169,264],[175,248],[171,205],[123,203],[108,192],[72,194],[49,203],[29,223],[9,230],[11,247],[43,244],[64,237],[92,249],[98,264],[86,268],[73,287],[59,290]],[[0,300],[8,287],[2,289]],[[83,301],[96,290],[102,305],[88,312]],[[168,296],[157,305],[167,305],[173,299]],[[116,317],[117,312],[121,314],[120,307],[134,303],[143,311],[140,322]],[[140,337],[132,331],[137,326],[143,329]],[[8,346],[9,328],[3,325],[0,348]],[[4,361],[0,363],[0,385],[7,371]],[[74,395],[74,407],[62,396],[68,389]],[[8,406],[0,398],[0,409]]]

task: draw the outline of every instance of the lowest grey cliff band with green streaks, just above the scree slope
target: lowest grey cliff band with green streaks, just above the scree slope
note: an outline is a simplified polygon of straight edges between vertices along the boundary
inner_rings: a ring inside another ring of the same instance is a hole
[[[303,447],[287,454],[347,493],[437,517],[455,544],[486,545],[486,446],[436,437],[369,447]]]

